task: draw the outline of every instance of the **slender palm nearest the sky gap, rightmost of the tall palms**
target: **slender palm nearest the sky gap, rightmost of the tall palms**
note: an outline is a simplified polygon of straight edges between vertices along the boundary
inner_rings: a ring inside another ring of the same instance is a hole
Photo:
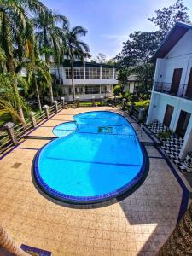
[[[89,46],[83,41],[79,40],[79,37],[85,36],[87,30],[82,26],[75,26],[72,30],[69,26],[63,26],[66,34],[66,48],[70,57],[71,71],[72,71],[72,86],[73,86],[73,101],[75,100],[75,85],[74,85],[74,55],[77,54],[84,61],[85,53],[90,51]]]

